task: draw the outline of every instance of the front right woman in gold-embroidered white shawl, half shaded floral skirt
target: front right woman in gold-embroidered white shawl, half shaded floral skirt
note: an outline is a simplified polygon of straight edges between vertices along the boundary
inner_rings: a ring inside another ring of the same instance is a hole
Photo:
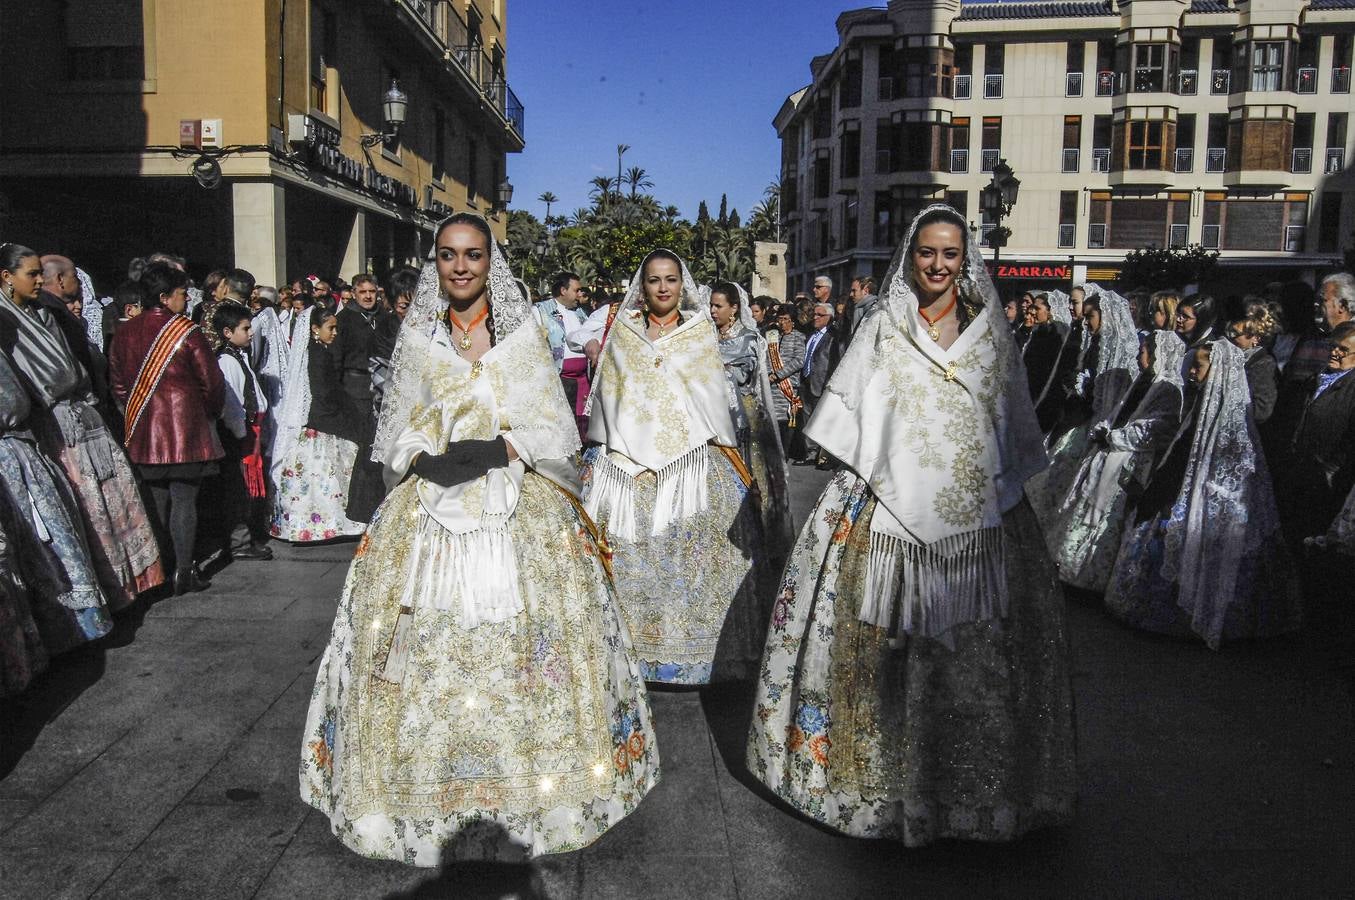
[[[846,464],[782,579],[748,764],[839,831],[1008,840],[1073,812],[1062,595],[1023,484],[1026,373],[963,220],[930,206],[809,436]]]

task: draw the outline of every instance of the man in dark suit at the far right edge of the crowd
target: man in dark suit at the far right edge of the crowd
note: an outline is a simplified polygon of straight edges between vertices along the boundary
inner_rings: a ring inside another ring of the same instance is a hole
[[[1294,431],[1290,477],[1293,525],[1306,538],[1324,534],[1355,485],[1355,323],[1332,329],[1327,371],[1309,381]]]

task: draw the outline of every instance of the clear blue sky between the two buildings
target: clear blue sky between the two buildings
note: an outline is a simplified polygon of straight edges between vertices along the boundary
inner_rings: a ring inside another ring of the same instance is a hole
[[[509,0],[508,81],[527,149],[508,157],[514,206],[538,218],[588,205],[588,182],[640,165],[687,218],[721,192],[747,217],[780,159],[772,117],[837,43],[833,0]]]

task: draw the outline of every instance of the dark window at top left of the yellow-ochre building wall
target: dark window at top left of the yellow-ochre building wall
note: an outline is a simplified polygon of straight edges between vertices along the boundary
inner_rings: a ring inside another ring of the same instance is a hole
[[[141,0],[68,0],[66,77],[141,81],[146,77]],[[19,30],[15,26],[12,31]]]

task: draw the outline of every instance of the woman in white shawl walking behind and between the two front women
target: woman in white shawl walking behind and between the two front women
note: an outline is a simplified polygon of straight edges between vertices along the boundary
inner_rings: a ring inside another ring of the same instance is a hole
[[[710,308],[675,253],[645,258],[604,338],[583,478],[645,678],[745,678],[776,576]]]

